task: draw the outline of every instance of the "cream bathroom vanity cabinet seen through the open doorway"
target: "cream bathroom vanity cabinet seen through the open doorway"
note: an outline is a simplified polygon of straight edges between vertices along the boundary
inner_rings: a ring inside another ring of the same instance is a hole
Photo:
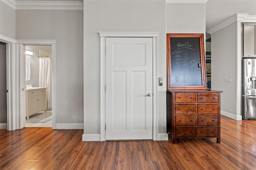
[[[40,111],[46,112],[46,87],[26,89],[26,118]]]

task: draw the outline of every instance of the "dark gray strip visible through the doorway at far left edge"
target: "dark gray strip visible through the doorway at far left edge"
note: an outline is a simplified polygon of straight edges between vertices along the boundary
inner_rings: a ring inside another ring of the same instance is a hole
[[[6,43],[0,42],[0,123],[7,123]]]

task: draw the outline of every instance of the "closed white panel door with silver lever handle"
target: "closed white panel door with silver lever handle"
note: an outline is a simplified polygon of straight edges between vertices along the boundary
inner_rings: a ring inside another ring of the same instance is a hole
[[[153,39],[106,38],[106,140],[145,139],[153,139]]]

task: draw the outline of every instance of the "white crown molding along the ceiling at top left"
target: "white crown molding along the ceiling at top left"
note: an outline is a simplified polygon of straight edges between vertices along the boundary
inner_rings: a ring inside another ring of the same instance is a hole
[[[1,0],[15,10],[83,10],[83,1],[28,1]]]

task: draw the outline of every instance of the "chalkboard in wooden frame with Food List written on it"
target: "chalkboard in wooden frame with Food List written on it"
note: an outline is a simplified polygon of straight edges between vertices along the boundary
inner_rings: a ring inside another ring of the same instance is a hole
[[[203,34],[167,34],[168,89],[206,89]]]

